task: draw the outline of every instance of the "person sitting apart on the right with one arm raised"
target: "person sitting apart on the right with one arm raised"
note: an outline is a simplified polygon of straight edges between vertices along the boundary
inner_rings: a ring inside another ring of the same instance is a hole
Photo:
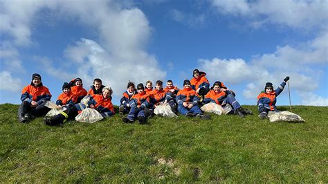
[[[277,95],[282,93],[288,80],[289,77],[284,78],[284,81],[276,90],[273,90],[273,84],[271,82],[266,82],[264,91],[257,95],[257,107],[259,108],[259,118],[261,120],[268,118],[268,111],[278,111],[277,107],[275,107],[276,98]]]

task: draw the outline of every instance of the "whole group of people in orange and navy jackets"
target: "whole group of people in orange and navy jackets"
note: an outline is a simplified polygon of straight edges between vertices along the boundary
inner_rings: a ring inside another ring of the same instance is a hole
[[[183,81],[183,89],[174,86],[172,80],[167,80],[166,87],[163,82],[157,80],[155,89],[151,81],[147,81],[135,86],[133,82],[128,82],[127,91],[120,99],[119,113],[122,121],[132,123],[138,120],[140,124],[147,122],[147,119],[154,116],[154,109],[161,104],[170,106],[173,113],[181,113],[187,117],[198,117],[208,120],[210,116],[201,111],[201,106],[209,102],[221,105],[226,113],[236,114],[244,118],[251,111],[240,106],[235,98],[235,92],[228,89],[223,82],[215,82],[210,87],[210,82],[206,78],[206,73],[195,69],[191,80]],[[257,96],[257,106],[259,118],[267,118],[268,111],[277,111],[275,107],[276,97],[279,95],[289,77],[286,77],[282,84],[273,90],[273,84],[267,82],[264,91]],[[102,85],[102,80],[96,78],[89,91],[83,88],[82,79],[75,78],[71,82],[64,82],[62,93],[58,96],[57,109],[62,109],[62,113],[52,118],[44,120],[46,125],[60,125],[66,120],[75,118],[87,107],[97,110],[102,117],[110,117],[115,114],[111,95],[113,90],[110,86]],[[85,98],[87,97],[87,98]],[[82,99],[84,102],[81,102]],[[44,116],[49,109],[46,103],[51,100],[51,93],[42,84],[41,75],[34,73],[31,83],[24,87],[21,94],[21,105],[18,110],[19,122],[27,122],[35,116]]]

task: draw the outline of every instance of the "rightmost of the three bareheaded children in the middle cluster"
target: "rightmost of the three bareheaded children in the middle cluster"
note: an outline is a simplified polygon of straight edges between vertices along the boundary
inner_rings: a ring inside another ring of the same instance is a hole
[[[172,98],[172,93],[163,89],[163,82],[161,80],[156,81],[156,88],[153,90],[150,100],[155,108],[157,105],[168,103],[173,113],[178,113],[176,111],[176,102],[174,101],[174,98]]]

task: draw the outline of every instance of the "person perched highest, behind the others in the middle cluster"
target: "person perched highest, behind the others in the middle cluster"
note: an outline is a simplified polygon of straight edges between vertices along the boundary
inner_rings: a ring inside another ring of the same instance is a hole
[[[194,69],[192,73],[193,78],[190,80],[191,87],[201,97],[202,102],[204,96],[210,91],[210,82],[206,79],[205,72]]]

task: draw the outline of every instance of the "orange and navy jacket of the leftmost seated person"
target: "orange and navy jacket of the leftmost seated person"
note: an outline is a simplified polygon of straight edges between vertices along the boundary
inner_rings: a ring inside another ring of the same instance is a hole
[[[46,86],[41,83],[38,87],[30,84],[21,91],[21,102],[32,102],[34,100],[37,104],[42,104],[51,99],[51,93]]]

